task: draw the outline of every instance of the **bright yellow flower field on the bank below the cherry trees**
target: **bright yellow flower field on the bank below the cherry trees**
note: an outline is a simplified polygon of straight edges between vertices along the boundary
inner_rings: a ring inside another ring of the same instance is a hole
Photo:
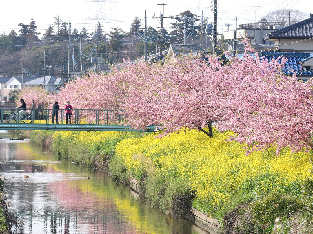
[[[133,177],[141,179],[143,171],[161,174],[166,180],[182,177],[196,192],[195,205],[206,212],[226,207],[247,187],[283,190],[309,176],[309,153],[291,154],[284,149],[277,157],[272,147],[247,155],[246,145],[227,141],[232,134],[214,131],[208,137],[192,130],[156,138],[156,133],[58,131],[53,137],[81,142],[90,150],[114,139],[115,157]]]

